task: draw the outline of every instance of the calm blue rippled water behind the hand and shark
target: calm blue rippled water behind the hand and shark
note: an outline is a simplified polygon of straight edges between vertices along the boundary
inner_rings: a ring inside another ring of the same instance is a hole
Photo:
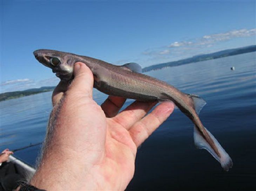
[[[193,124],[175,110],[138,150],[135,176],[127,190],[255,190],[255,67],[256,54],[247,53],[148,72],[207,101],[200,118],[234,166],[225,172],[206,150],[195,149]],[[1,150],[43,141],[50,96],[47,92],[0,102]],[[94,98],[100,104],[106,95],[95,90]],[[34,165],[39,150],[35,146],[15,155]]]

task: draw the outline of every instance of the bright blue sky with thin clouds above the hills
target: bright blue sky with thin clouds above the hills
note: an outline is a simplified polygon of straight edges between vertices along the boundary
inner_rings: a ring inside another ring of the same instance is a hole
[[[256,44],[255,1],[0,2],[0,93],[58,83],[36,49],[145,67]]]

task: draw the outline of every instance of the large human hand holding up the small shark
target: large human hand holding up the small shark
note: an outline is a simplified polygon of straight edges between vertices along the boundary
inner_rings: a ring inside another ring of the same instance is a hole
[[[76,63],[74,80],[60,82],[41,163],[31,184],[45,190],[124,190],[134,175],[137,147],[168,118],[174,105],[135,101],[119,112],[124,98],[92,98],[93,74]]]

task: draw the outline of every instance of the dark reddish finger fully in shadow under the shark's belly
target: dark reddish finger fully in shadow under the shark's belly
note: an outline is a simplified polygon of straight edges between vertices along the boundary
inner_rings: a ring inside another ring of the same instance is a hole
[[[107,100],[101,104],[106,117],[114,117],[122,108],[126,98],[117,96],[108,96]]]

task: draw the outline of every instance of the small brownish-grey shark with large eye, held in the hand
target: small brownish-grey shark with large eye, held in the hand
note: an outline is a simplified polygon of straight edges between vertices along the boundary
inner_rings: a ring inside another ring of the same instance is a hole
[[[196,147],[208,150],[224,170],[228,171],[233,166],[230,156],[198,117],[206,102],[197,95],[182,93],[166,82],[141,74],[141,67],[136,63],[116,66],[87,56],[46,49],[34,51],[34,56],[40,63],[51,68],[61,80],[72,80],[74,64],[82,62],[93,73],[94,88],[105,94],[140,101],[173,101],[194,123]]]

